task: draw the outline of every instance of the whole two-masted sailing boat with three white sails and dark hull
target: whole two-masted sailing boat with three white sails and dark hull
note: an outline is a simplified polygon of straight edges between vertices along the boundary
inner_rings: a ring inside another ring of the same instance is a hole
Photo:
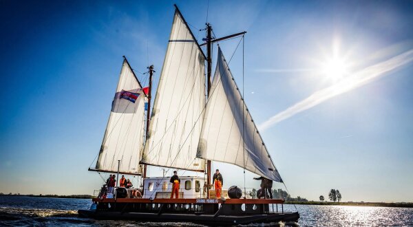
[[[113,199],[99,197],[93,199],[96,210],[79,210],[79,214],[220,225],[297,221],[298,213],[284,212],[283,199],[251,199],[246,195],[243,199],[217,198],[209,190],[211,161],[240,166],[276,182],[282,182],[282,178],[220,47],[211,83],[212,43],[245,32],[213,39],[209,23],[206,30],[206,43],[201,45],[207,45],[207,56],[176,6],[160,82],[153,109],[151,112],[150,107],[147,109],[147,116],[151,113],[147,120],[145,102],[151,103],[151,86],[149,92],[145,92],[124,59],[96,167],[89,170],[141,175],[142,197],[130,195],[130,191],[136,189],[117,193]],[[150,67],[149,74],[152,73],[153,67]],[[147,177],[147,165],[205,175],[180,176],[180,199],[169,199],[169,178]],[[277,212],[270,210],[270,204],[276,204]],[[278,204],[282,213],[278,213]]]

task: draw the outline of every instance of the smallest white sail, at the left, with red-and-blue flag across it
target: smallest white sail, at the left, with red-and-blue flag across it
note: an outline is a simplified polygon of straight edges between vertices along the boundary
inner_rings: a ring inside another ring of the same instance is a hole
[[[147,97],[125,59],[96,171],[117,172],[120,160],[120,173],[142,173],[139,160],[145,139],[145,101]]]

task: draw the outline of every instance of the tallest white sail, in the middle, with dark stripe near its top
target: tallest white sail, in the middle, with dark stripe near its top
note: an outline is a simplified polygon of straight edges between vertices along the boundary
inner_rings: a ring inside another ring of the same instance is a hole
[[[204,171],[195,158],[205,106],[205,57],[176,10],[141,163]]]

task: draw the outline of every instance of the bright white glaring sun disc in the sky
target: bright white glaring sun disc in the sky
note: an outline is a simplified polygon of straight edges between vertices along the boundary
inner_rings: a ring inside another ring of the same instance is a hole
[[[321,73],[333,81],[339,81],[348,74],[348,64],[343,58],[334,56],[321,65]]]

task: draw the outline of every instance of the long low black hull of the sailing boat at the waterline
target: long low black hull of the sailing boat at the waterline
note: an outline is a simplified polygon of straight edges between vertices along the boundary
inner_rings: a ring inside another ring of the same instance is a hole
[[[298,213],[269,213],[263,215],[205,215],[205,214],[176,214],[176,213],[138,213],[120,211],[96,211],[96,210],[78,210],[81,217],[90,217],[94,219],[129,219],[136,221],[176,221],[176,222],[193,222],[198,224],[233,226],[239,224],[251,223],[272,223],[278,221],[297,221]]]

